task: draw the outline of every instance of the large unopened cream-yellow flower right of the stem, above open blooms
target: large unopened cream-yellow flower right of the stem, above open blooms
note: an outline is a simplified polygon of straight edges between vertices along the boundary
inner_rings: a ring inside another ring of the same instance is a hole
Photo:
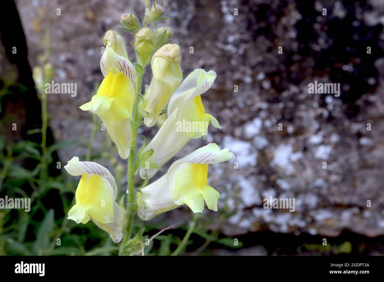
[[[139,110],[144,124],[152,127],[162,109],[169,102],[182,79],[180,48],[177,44],[166,44],[156,51],[151,59],[152,80]]]

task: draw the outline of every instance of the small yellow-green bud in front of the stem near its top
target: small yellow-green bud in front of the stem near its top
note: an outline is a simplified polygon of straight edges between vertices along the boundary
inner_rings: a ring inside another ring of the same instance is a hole
[[[139,55],[139,63],[144,67],[151,59],[155,45],[155,37],[149,28],[142,28],[135,35],[136,50]]]

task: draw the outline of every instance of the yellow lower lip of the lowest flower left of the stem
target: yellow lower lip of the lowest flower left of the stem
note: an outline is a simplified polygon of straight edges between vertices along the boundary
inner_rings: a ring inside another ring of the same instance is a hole
[[[76,223],[87,223],[89,216],[101,223],[111,223],[113,214],[113,192],[109,182],[99,175],[81,175],[76,189],[76,204],[68,218]]]

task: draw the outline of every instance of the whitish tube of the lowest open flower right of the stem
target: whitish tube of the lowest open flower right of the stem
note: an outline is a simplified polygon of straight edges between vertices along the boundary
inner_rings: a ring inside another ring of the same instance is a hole
[[[166,175],[137,192],[137,205],[137,215],[142,220],[149,220],[179,206],[172,200]]]

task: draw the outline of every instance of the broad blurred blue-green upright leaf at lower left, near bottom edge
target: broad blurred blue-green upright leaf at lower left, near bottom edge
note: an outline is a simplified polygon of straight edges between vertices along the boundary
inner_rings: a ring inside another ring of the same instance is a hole
[[[50,209],[40,224],[39,230],[36,235],[36,241],[33,243],[33,254],[42,254],[51,244],[50,233],[55,227],[55,212]]]

